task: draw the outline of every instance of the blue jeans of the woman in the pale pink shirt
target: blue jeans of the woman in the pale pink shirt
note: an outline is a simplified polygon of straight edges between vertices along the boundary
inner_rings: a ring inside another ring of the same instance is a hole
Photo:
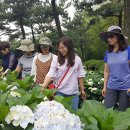
[[[79,104],[79,95],[78,94],[66,95],[66,94],[63,94],[61,92],[56,92],[56,95],[63,96],[63,97],[73,96],[73,98],[72,98],[72,109],[73,110],[77,110],[78,109],[78,104]]]

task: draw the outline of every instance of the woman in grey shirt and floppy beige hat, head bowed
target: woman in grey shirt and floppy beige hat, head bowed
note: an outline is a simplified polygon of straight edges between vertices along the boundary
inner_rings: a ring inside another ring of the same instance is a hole
[[[31,74],[32,61],[34,56],[34,44],[30,39],[24,39],[21,41],[21,45],[17,48],[24,52],[24,55],[19,59],[16,71],[22,72],[22,78],[27,74]]]

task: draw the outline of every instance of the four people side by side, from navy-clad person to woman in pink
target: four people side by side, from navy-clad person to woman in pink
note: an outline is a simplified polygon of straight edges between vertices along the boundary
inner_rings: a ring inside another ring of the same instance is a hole
[[[30,39],[21,40],[17,49],[24,53],[19,60],[10,50],[8,42],[0,42],[0,51],[3,54],[2,76],[9,70],[22,72],[22,79],[27,74],[34,75],[34,81],[42,85],[42,90],[53,82],[58,87],[56,94],[71,96],[72,108],[78,108],[79,90],[82,98],[86,98],[83,85],[85,71],[70,38],[62,37],[58,40],[57,56],[51,53],[52,41],[48,37],[41,37],[36,48]]]

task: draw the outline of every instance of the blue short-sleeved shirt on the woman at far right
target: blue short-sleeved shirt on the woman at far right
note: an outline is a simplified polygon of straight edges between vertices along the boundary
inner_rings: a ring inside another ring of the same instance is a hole
[[[130,46],[124,51],[106,51],[104,62],[108,64],[110,74],[107,87],[115,90],[130,88]]]

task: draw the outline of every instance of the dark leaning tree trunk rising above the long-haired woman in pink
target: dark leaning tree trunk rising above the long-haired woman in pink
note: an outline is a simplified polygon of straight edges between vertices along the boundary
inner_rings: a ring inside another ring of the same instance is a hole
[[[60,20],[59,20],[59,15],[58,15],[58,12],[57,12],[55,0],[51,0],[51,5],[52,5],[53,17],[55,19],[55,23],[56,23],[56,27],[57,27],[57,31],[58,31],[58,36],[62,37],[63,33],[62,33],[62,30],[61,30],[61,25],[60,25]]]

